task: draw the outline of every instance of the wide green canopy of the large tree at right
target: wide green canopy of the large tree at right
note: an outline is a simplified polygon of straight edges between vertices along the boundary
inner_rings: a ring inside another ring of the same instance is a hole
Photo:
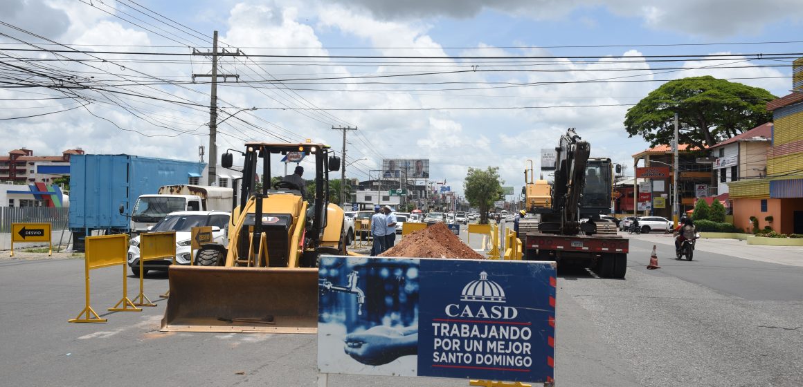
[[[678,113],[679,143],[703,148],[772,120],[766,105],[776,97],[760,87],[711,76],[664,83],[627,111],[630,137],[641,135],[652,146],[675,137]]]

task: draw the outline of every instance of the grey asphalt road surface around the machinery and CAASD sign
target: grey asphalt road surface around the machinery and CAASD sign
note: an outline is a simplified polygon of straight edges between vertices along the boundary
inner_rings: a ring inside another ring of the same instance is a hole
[[[465,236],[463,235],[463,238]],[[481,238],[471,238],[479,247]],[[556,384],[799,386],[803,268],[699,251],[671,259],[631,241],[626,280],[559,272]],[[160,333],[165,275],[145,280],[157,307],[106,312],[122,269],[92,271],[107,324],[69,324],[84,306],[83,260],[0,260],[2,385],[314,385],[316,336]],[[137,283],[128,277],[128,295]],[[467,381],[332,375],[329,385],[465,386]]]

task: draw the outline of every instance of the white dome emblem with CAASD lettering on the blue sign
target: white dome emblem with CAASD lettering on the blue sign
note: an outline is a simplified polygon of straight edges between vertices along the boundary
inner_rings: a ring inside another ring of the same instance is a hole
[[[467,302],[482,302],[496,305],[479,305],[479,308],[471,304],[448,304],[444,312],[450,317],[464,318],[489,318],[512,320],[519,315],[519,311],[512,306],[504,306],[507,299],[501,285],[492,280],[488,280],[487,272],[479,273],[479,280],[472,280],[463,287],[460,292],[460,300]]]

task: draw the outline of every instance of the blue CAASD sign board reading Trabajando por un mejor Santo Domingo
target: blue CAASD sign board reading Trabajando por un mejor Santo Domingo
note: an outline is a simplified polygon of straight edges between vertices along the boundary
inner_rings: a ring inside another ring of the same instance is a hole
[[[553,262],[324,256],[321,373],[552,382]]]

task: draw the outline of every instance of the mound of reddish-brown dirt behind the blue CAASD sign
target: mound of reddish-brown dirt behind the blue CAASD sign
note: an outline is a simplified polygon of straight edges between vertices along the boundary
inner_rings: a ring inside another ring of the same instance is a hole
[[[467,244],[464,244],[443,223],[436,223],[428,228],[406,235],[393,248],[381,253],[380,256],[485,259],[482,254],[475,252]]]

